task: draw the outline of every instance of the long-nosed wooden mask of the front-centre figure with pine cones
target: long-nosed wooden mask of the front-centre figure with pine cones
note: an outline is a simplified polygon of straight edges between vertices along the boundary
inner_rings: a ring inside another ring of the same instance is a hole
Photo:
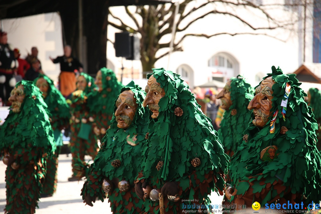
[[[159,115],[158,102],[160,98],[165,96],[165,91],[160,87],[155,77],[151,76],[147,81],[147,86],[145,88],[146,98],[143,101],[143,107],[149,108],[152,111],[152,118],[155,119]]]

